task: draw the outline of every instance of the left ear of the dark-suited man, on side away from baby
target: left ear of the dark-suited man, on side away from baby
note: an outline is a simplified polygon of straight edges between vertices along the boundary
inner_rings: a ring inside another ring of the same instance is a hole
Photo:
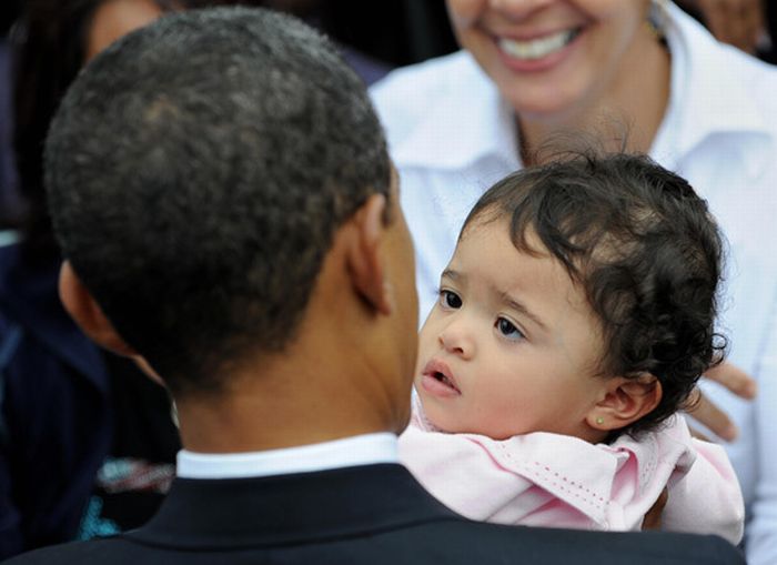
[[[119,355],[138,355],[113,329],[111,321],[73,271],[70,261],[64,261],[60,269],[59,296],[68,314],[94,343]]]

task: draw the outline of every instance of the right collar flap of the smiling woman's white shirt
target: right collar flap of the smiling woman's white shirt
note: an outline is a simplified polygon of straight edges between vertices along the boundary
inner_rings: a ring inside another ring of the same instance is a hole
[[[669,108],[654,154],[662,153],[659,160],[670,163],[712,137],[736,135],[735,147],[747,173],[757,174],[766,164],[773,140],[756,105],[745,103],[753,95],[743,84],[741,70],[720,60],[722,53],[733,48],[717,42],[674,3],[657,6],[663,7],[660,26],[673,69]]]

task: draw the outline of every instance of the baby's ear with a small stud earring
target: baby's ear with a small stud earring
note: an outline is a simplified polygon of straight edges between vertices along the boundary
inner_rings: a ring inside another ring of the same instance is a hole
[[[658,379],[615,376],[607,381],[605,396],[586,415],[587,424],[603,432],[620,430],[653,412],[662,398]]]

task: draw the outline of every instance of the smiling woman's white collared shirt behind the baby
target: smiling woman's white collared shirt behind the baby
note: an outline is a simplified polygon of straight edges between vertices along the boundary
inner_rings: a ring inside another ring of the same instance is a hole
[[[707,199],[728,240],[720,330],[759,395],[706,386],[741,430],[728,453],[751,513],[748,559],[777,563],[777,69],[672,4],[665,19],[672,90],[650,154]],[[470,209],[521,168],[513,111],[466,52],[397,70],[372,93],[400,171],[423,319]]]

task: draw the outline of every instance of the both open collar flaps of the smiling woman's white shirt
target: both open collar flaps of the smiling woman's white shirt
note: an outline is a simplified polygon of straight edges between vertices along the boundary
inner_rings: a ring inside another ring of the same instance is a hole
[[[720,62],[722,52],[734,48],[717,42],[674,3],[658,6],[666,7],[660,23],[673,53],[670,105],[662,123],[662,130],[669,130],[664,137],[670,139],[664,140],[667,144],[662,143],[662,149],[678,159],[710,135],[740,135],[736,145],[748,174],[756,174],[766,164],[774,140],[755,105],[743,103],[751,95],[740,70]],[[396,148],[395,161],[402,168],[461,170],[496,155],[509,169],[519,168],[512,108],[468,52],[460,51],[448,60],[445,95]],[[676,123],[669,128],[669,121]]]

